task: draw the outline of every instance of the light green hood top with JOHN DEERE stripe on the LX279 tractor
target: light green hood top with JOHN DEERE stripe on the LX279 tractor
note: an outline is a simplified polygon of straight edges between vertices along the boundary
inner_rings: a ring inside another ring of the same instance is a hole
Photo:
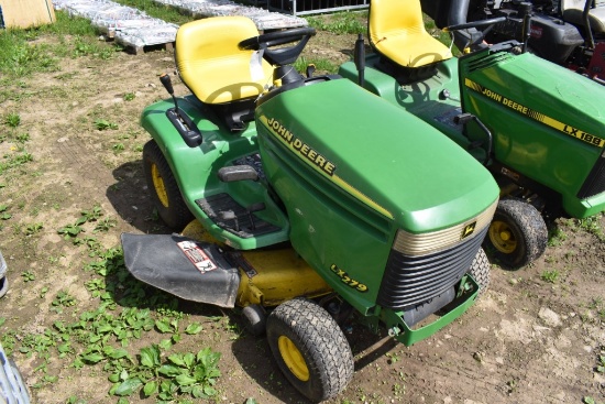
[[[283,92],[256,110],[260,137],[397,226],[435,231],[498,197],[470,154],[405,110],[349,80]]]

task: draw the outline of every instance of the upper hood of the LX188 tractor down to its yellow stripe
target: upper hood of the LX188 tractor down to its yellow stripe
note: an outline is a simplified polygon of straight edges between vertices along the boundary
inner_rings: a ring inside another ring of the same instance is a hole
[[[463,58],[461,70],[465,77],[461,86],[471,94],[490,97],[587,144],[605,145],[605,86],[529,53],[479,53]],[[601,141],[582,139],[581,132]]]

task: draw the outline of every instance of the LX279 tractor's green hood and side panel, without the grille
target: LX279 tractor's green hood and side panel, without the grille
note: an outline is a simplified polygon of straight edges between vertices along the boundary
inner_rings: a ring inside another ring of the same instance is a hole
[[[309,102],[319,99],[322,108]],[[265,174],[286,207],[290,242],[363,314],[380,301],[399,229],[422,234],[460,226],[497,199],[490,173],[454,142],[348,80],[286,91],[256,116]]]

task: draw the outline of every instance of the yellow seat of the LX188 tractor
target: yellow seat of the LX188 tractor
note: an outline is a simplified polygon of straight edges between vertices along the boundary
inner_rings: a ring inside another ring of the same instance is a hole
[[[452,57],[448,46],[425,29],[420,0],[372,0],[370,43],[404,67],[420,67]]]

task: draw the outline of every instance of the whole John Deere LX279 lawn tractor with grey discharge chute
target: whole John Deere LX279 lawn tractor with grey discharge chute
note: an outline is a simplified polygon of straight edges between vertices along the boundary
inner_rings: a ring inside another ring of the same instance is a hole
[[[340,325],[411,345],[461,316],[490,282],[481,249],[498,186],[437,129],[354,83],[297,73],[309,28],[258,35],[240,17],[184,24],[191,95],[147,107],[144,172],[180,234],[122,234],[142,282],[242,307],[312,401],[353,374]],[[189,223],[189,225],[188,225]],[[266,315],[266,313],[270,313]]]

